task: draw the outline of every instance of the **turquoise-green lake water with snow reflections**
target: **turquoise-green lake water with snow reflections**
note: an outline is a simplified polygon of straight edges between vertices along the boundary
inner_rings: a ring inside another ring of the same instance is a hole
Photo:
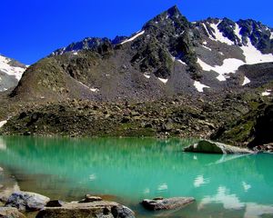
[[[182,153],[192,142],[2,137],[0,166],[22,190],[67,201],[104,195],[137,217],[273,217],[272,154]],[[177,211],[143,210],[139,202],[157,196],[197,202]]]

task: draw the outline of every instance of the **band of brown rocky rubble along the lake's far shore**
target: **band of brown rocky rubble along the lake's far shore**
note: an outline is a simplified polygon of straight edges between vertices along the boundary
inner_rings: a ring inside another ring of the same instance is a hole
[[[216,97],[216,96],[215,96]],[[216,99],[216,98],[215,98]],[[25,104],[1,134],[61,136],[152,136],[209,138],[222,126],[248,114],[262,99],[230,94],[221,100],[180,96],[138,103],[67,100]],[[23,109],[24,108],[24,109]],[[232,112],[232,113],[231,113]],[[5,111],[6,113],[6,111]],[[8,114],[3,112],[4,117]],[[3,118],[5,119],[5,118]]]

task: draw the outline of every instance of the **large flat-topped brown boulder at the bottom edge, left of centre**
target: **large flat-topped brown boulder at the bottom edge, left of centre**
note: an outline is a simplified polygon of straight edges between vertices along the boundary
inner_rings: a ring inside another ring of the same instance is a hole
[[[135,213],[119,203],[95,201],[91,203],[64,203],[60,207],[45,207],[36,218],[134,218]]]

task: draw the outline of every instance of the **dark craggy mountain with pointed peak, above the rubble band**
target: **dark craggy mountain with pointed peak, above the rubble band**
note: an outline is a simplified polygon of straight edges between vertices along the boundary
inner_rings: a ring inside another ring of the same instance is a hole
[[[273,29],[254,20],[189,22],[177,6],[130,37],[88,37],[29,67],[22,99],[151,100],[273,89]]]

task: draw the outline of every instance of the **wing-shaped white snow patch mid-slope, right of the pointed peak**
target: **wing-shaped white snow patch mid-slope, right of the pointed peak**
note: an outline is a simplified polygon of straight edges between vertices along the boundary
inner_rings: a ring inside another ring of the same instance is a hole
[[[236,58],[227,58],[222,65],[211,66],[203,62],[200,58],[197,58],[197,64],[199,64],[204,71],[214,71],[219,74],[217,76],[218,81],[226,81],[229,73],[235,73],[240,65],[245,64],[243,61]]]

